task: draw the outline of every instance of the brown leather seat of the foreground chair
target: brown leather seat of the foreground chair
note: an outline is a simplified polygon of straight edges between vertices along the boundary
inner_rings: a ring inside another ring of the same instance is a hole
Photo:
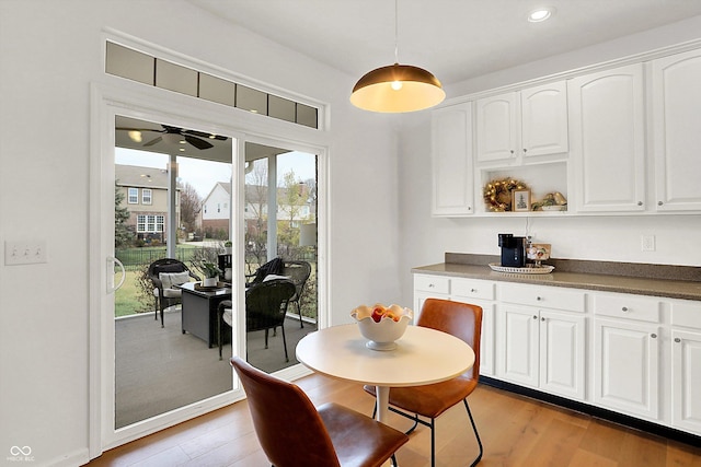
[[[406,442],[404,433],[338,404],[329,402],[318,410],[343,467],[375,465]],[[356,436],[348,435],[354,433]]]

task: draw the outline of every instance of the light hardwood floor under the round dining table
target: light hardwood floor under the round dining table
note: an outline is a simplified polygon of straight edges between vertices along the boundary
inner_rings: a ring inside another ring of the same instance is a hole
[[[358,385],[321,375],[296,382],[315,405],[337,401],[371,413]],[[676,443],[589,416],[481,385],[468,399],[484,444],[480,466],[701,467],[701,446]],[[392,416],[398,429],[409,421]],[[429,466],[428,429],[420,427],[397,454],[401,467]],[[437,421],[437,466],[468,465],[476,442],[462,405]],[[119,446],[97,466],[267,467],[245,401]],[[318,467],[318,466],[310,466]],[[321,466],[319,466],[321,467]]]

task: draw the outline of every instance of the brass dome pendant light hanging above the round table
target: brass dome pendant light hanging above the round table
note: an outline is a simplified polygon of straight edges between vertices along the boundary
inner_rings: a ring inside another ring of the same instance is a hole
[[[398,1],[394,0],[394,65],[366,73],[350,94],[350,103],[364,110],[423,110],[446,98],[440,81],[429,71],[411,65],[399,65]]]

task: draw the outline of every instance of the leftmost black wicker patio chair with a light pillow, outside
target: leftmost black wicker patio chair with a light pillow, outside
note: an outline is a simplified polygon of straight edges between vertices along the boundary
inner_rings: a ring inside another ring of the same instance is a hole
[[[158,312],[160,311],[161,327],[164,327],[163,311],[169,306],[181,303],[182,300],[182,291],[173,285],[189,282],[191,278],[196,281],[200,279],[187,266],[173,258],[163,258],[151,262],[147,276],[153,282],[154,319],[158,319]]]

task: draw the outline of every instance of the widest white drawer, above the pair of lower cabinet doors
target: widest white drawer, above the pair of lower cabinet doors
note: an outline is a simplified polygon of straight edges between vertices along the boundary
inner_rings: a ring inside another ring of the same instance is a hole
[[[583,291],[556,287],[499,284],[503,302],[584,313]]]

